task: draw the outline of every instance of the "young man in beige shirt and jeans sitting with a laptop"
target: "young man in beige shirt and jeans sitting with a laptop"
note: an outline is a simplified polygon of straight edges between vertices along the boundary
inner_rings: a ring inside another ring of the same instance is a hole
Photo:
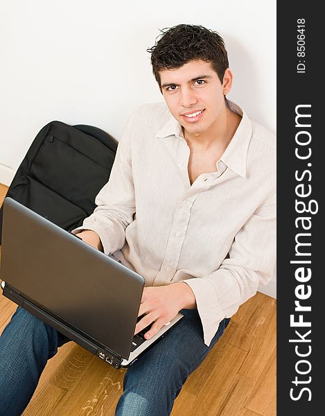
[[[135,333],[152,323],[150,338],[184,314],[128,368],[119,416],[169,415],[231,315],[270,281],[275,261],[275,140],[227,100],[233,76],[222,38],[182,24],[148,51],[166,103],[132,114],[94,213],[73,230],[145,278]],[[0,338],[6,415],[25,408],[64,342],[17,309]]]

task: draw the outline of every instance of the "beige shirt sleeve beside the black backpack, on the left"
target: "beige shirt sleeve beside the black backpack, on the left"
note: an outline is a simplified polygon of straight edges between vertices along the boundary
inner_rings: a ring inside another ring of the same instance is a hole
[[[85,218],[82,226],[71,231],[72,234],[85,229],[95,231],[107,255],[123,247],[125,228],[132,222],[135,213],[131,162],[132,118],[130,116],[118,142],[109,180],[95,198],[97,207],[93,214]]]

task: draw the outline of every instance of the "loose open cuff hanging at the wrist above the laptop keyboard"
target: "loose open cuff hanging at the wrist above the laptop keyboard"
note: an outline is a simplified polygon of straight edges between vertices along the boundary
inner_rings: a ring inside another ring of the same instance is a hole
[[[211,281],[202,277],[193,277],[182,281],[188,284],[194,293],[197,311],[202,323],[204,344],[209,347],[212,338],[218,331],[220,322],[226,318],[225,312],[218,304],[216,296],[211,296],[215,290]]]

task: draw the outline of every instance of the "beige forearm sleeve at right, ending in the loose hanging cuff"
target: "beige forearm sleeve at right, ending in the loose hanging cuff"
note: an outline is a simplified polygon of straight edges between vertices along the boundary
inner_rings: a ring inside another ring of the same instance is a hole
[[[243,225],[218,270],[183,280],[191,287],[204,333],[210,345],[224,318],[256,294],[260,283],[272,279],[276,261],[275,193]]]

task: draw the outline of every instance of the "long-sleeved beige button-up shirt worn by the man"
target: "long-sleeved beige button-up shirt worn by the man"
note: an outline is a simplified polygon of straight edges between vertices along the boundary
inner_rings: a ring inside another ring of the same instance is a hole
[[[275,137],[243,116],[218,171],[188,178],[190,149],[165,103],[143,105],[125,126],[109,182],[82,227],[145,286],[185,281],[195,295],[204,343],[258,284],[276,252]]]

